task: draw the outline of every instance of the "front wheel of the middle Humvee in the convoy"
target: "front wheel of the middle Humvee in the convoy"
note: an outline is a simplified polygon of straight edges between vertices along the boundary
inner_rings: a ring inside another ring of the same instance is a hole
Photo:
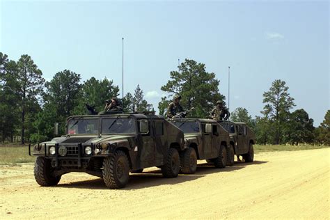
[[[191,174],[196,172],[197,155],[194,148],[188,148],[180,155],[181,172]]]

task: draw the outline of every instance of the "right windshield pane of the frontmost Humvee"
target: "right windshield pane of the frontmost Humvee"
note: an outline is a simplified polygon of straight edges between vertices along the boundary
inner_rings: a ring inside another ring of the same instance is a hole
[[[135,133],[133,118],[104,118],[102,119],[102,134],[131,134]]]

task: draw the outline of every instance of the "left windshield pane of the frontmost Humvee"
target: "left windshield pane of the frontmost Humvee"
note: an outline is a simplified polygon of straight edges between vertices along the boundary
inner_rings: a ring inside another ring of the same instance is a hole
[[[68,121],[68,134],[98,134],[98,118],[72,118]]]

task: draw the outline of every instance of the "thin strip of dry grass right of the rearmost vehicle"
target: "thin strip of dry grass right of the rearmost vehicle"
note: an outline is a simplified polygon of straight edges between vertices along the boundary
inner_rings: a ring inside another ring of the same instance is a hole
[[[294,150],[313,150],[320,148],[329,148],[329,146],[315,146],[308,144],[301,144],[298,146],[292,145],[253,145],[254,152],[272,152],[272,151],[294,151]]]

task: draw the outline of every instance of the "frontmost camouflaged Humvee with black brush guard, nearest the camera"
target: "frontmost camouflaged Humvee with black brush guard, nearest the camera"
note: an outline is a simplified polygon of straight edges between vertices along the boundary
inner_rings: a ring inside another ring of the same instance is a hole
[[[56,185],[61,175],[86,172],[103,178],[109,188],[125,187],[129,171],[158,166],[166,178],[180,171],[184,134],[163,116],[112,113],[70,116],[67,134],[29,146],[37,156],[34,168],[41,186]]]

